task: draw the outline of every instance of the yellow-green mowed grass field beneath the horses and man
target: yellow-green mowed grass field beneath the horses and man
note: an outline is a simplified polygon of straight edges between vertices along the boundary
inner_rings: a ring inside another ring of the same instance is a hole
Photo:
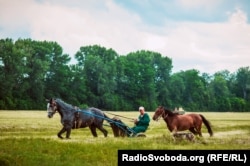
[[[112,112],[136,118],[138,112]],[[148,112],[152,117],[153,112]],[[203,114],[212,124],[210,137],[203,125],[203,137],[194,142],[174,141],[165,122],[151,120],[147,137],[114,138],[107,122],[109,135],[98,130],[93,138],[88,128],[72,130],[71,139],[57,138],[62,128],[59,114],[47,118],[46,111],[0,111],[0,165],[117,165],[119,149],[247,149],[250,150],[250,113]],[[109,117],[113,115],[107,114]],[[129,127],[133,122],[122,119]],[[65,135],[63,135],[65,136]]]

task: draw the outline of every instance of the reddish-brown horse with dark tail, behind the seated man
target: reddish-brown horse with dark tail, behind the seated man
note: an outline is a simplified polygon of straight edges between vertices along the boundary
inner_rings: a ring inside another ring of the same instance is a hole
[[[213,131],[209,121],[201,114],[184,114],[173,113],[171,110],[159,106],[156,108],[153,120],[157,121],[162,117],[167,124],[170,132],[176,133],[177,131],[189,130],[193,134],[202,137],[201,127],[202,123],[207,127],[210,136],[213,136]]]

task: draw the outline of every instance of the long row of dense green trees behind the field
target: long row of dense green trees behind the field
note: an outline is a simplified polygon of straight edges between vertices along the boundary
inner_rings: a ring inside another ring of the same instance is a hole
[[[187,111],[250,111],[250,68],[213,75],[196,69],[172,73],[172,60],[139,50],[119,55],[82,46],[76,64],[52,41],[0,40],[0,109],[44,110],[61,98],[80,108],[153,111],[158,105]]]

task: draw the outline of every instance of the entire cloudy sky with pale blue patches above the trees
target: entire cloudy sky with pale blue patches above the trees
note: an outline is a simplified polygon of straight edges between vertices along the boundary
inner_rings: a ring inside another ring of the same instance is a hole
[[[172,73],[250,66],[249,0],[0,0],[0,39],[55,41],[63,53],[100,45],[148,50]]]

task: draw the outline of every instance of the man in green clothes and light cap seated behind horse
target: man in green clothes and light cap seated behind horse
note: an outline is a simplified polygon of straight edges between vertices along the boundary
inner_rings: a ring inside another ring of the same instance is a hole
[[[145,132],[148,129],[149,122],[150,122],[150,117],[149,115],[145,112],[144,107],[139,107],[140,115],[138,119],[134,120],[135,126],[132,127],[132,130],[135,132],[135,134],[140,133],[140,132]]]

